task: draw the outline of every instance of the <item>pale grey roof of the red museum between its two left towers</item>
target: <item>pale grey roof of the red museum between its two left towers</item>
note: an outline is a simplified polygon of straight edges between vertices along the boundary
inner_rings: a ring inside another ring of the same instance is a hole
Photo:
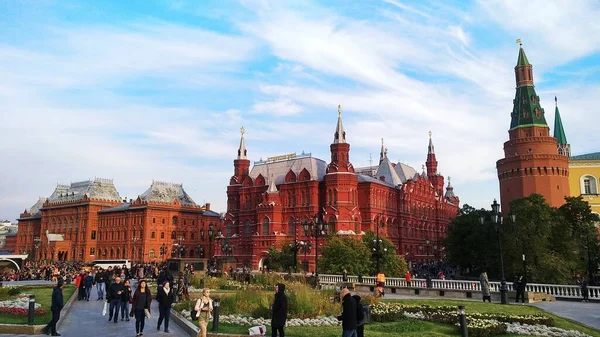
[[[310,173],[311,180],[322,181],[325,177],[327,163],[321,159],[314,158],[310,154],[304,154],[292,159],[266,162],[254,162],[254,166],[250,171],[250,177],[256,179],[258,175],[262,175],[265,180],[273,176],[275,184],[280,185],[285,183],[285,176],[291,170],[298,176],[303,169]]]

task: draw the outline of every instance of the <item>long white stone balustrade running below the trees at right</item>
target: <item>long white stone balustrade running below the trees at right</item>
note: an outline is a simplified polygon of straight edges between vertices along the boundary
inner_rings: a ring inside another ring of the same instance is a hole
[[[319,275],[319,284],[324,287],[331,287],[335,284],[342,282],[342,275]],[[348,282],[358,283],[357,276],[348,276]],[[432,279],[433,289],[447,289],[447,290],[465,290],[465,291],[481,291],[481,284],[479,281],[473,280],[439,280]],[[362,283],[375,284],[375,277],[363,276]],[[387,277],[385,280],[386,287],[397,287],[397,288],[408,288],[409,285],[406,283],[404,278]],[[513,289],[512,282],[506,282],[508,291],[515,291]],[[425,279],[412,279],[410,288],[426,288]],[[552,295],[557,299],[580,299],[581,288],[578,285],[564,285],[564,284],[540,284],[540,283],[529,283],[525,289],[528,292],[534,293],[545,293]],[[500,292],[500,282],[490,282],[491,292]],[[588,287],[589,297],[591,300],[600,300],[600,287],[590,286]]]

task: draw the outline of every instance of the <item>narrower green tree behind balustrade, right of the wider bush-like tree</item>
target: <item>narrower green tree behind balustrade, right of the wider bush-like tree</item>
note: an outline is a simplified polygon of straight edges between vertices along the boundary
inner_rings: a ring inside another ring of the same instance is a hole
[[[373,248],[373,240],[375,240],[377,236],[373,232],[367,232],[363,236],[363,244],[372,251]],[[404,257],[398,256],[396,254],[396,247],[392,244],[390,240],[384,237],[379,237],[382,240],[382,255],[380,257],[380,267],[381,271],[389,276],[389,277],[400,277],[406,273],[408,267],[406,266],[406,261]],[[369,275],[375,275],[377,273],[377,261],[375,258],[371,258],[369,264]]]

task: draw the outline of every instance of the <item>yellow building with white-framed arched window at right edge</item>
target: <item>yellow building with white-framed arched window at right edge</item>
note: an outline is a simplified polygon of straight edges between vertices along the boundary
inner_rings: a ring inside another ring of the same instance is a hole
[[[600,152],[573,156],[569,159],[569,187],[571,196],[582,196],[592,212],[600,214]]]

